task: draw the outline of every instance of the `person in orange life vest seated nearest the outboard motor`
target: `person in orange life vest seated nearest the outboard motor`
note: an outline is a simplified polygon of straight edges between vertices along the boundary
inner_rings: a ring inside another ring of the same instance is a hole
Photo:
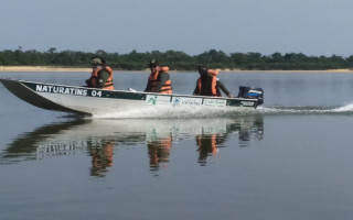
[[[196,81],[196,88],[193,92],[195,96],[216,96],[222,97],[221,90],[226,94],[227,97],[234,96],[229,90],[218,80],[218,72],[208,69],[204,65],[199,66],[200,78]],[[221,89],[221,90],[220,90]]]

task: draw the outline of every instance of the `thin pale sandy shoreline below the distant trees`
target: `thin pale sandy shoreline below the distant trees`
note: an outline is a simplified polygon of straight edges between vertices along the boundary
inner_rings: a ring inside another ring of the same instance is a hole
[[[325,70],[245,70],[245,69],[217,69],[225,73],[352,73],[353,69],[325,69]],[[54,67],[54,66],[0,66],[0,72],[92,72],[92,68]],[[149,72],[146,70],[115,70],[115,72]],[[170,70],[170,73],[186,70]],[[196,70],[195,70],[196,72]]]

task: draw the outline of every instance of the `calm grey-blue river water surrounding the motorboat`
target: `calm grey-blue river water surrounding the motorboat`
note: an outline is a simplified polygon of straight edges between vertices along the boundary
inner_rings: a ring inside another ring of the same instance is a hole
[[[0,73],[83,85],[89,73]],[[147,73],[115,73],[143,90]],[[196,73],[172,73],[191,94]],[[261,87],[256,111],[224,116],[76,118],[0,86],[0,219],[353,218],[353,75],[221,73]],[[204,118],[206,117],[206,118]]]

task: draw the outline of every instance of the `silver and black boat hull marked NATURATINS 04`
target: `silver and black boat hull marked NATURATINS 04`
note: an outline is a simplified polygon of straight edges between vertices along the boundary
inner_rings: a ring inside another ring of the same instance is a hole
[[[13,95],[35,107],[77,114],[107,114],[136,109],[168,109],[171,111],[188,109],[256,109],[258,106],[258,99],[247,98],[104,90],[12,79],[0,79],[0,81]]]

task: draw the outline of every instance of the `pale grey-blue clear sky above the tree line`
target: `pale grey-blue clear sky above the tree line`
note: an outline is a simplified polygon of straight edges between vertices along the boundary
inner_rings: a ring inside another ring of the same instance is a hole
[[[353,55],[352,0],[0,0],[0,51]]]

